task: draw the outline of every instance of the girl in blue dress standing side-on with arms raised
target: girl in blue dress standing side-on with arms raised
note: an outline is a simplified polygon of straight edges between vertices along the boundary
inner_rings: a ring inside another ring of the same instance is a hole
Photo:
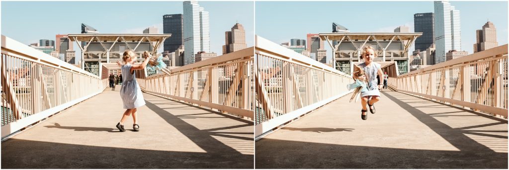
[[[122,115],[122,119],[117,124],[117,128],[120,131],[126,131],[124,128],[125,120],[132,115],[134,131],[139,131],[138,115],[136,108],[144,106],[145,100],[143,98],[142,90],[139,88],[139,84],[136,81],[135,70],[143,70],[150,60],[150,55],[145,56],[145,61],[142,64],[133,64],[136,60],[136,54],[131,50],[124,51],[122,60],[124,64],[117,61],[117,64],[121,65],[122,77],[125,81],[122,83],[120,88],[120,97],[124,104],[124,109],[127,109]]]

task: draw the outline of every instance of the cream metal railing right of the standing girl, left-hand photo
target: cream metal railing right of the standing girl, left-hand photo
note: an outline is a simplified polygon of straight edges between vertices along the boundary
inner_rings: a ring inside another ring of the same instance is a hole
[[[253,47],[145,77],[140,87],[159,96],[253,119]]]

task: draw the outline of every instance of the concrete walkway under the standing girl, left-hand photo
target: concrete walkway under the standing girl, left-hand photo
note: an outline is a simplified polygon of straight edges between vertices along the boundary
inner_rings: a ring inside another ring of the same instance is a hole
[[[140,131],[107,88],[2,143],[2,168],[253,168],[253,123],[145,94]]]

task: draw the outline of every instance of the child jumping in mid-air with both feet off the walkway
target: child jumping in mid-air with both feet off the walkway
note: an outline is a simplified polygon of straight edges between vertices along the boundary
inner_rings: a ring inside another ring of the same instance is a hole
[[[366,45],[362,49],[361,59],[364,60],[363,63],[360,63],[358,66],[364,70],[366,80],[367,80],[367,90],[365,92],[361,92],[360,96],[362,97],[361,105],[361,118],[362,120],[367,119],[367,106],[370,108],[370,112],[372,114],[376,113],[374,104],[380,101],[380,91],[378,89],[382,88],[382,84],[380,84],[377,80],[377,75],[382,77],[382,69],[379,63],[373,61],[376,57],[375,50],[372,46]],[[354,74],[354,78],[357,79],[357,76]]]

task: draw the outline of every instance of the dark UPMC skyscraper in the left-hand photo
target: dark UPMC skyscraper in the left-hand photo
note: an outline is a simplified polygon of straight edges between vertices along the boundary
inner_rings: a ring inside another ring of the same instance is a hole
[[[172,14],[162,16],[162,31],[163,33],[171,33],[164,41],[164,51],[174,52],[184,45],[184,31],[183,31],[183,16],[182,14]]]

